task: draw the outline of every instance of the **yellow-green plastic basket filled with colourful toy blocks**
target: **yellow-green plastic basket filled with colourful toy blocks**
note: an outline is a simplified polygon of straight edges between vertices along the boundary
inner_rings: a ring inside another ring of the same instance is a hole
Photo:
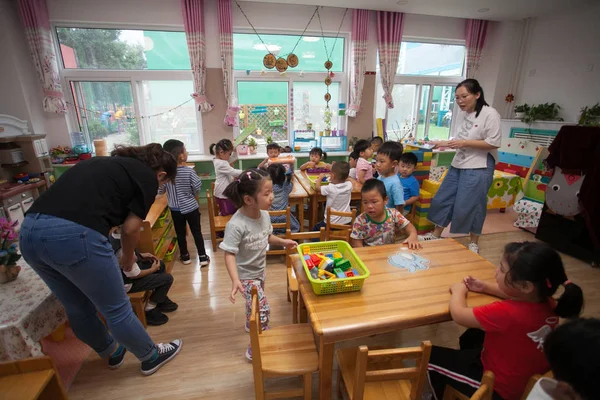
[[[301,244],[298,253],[315,294],[360,290],[370,274],[343,241]]]

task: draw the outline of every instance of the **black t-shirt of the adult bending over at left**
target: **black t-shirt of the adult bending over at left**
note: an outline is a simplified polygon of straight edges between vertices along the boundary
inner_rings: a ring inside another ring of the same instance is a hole
[[[94,157],[67,170],[27,211],[73,221],[108,237],[129,212],[146,218],[158,180],[134,158]]]

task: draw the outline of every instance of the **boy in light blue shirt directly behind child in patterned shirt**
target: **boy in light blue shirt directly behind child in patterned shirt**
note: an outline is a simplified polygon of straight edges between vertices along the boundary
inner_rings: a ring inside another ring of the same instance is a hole
[[[400,178],[396,174],[396,167],[402,155],[402,145],[396,142],[385,142],[377,152],[377,162],[375,167],[379,172],[379,179],[385,185],[385,191],[388,196],[386,207],[395,208],[403,211],[404,190],[400,183]]]

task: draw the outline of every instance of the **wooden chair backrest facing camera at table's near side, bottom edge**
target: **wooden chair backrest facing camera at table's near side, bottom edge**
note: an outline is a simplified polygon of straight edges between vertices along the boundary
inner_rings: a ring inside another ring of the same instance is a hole
[[[356,370],[354,381],[354,399],[362,400],[366,382],[410,380],[411,400],[421,399],[425,380],[427,379],[427,365],[431,354],[431,342],[421,342],[420,347],[407,347],[404,349],[371,350],[367,346],[360,346],[356,352]],[[376,364],[384,360],[416,360],[414,367],[389,368],[367,370],[370,363]]]

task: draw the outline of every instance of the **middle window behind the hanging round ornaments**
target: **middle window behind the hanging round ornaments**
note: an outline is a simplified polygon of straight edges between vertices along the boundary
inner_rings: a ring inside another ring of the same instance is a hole
[[[272,35],[261,34],[264,44],[256,34],[233,34],[233,65],[236,96],[241,108],[240,129],[257,123],[261,135],[253,134],[259,146],[271,135],[281,145],[290,144],[294,130],[325,129],[324,99],[327,87],[324,79],[325,46],[331,53],[334,76],[331,77],[329,108],[332,112],[331,129],[344,129],[346,116],[338,116],[339,103],[347,98],[345,73],[346,38],[320,35]],[[270,51],[286,57],[292,51],[298,56],[299,65],[288,68],[284,75],[263,66],[263,57]],[[334,46],[335,45],[335,46]],[[265,49],[266,46],[266,49]],[[264,71],[264,72],[263,72]],[[288,128],[289,127],[289,128]]]

